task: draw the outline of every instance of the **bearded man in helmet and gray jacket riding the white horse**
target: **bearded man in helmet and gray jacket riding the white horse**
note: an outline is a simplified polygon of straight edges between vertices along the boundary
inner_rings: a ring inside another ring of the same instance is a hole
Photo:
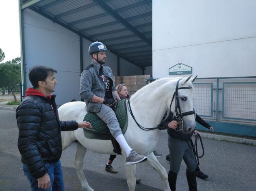
[[[139,154],[127,144],[121,132],[115,112],[111,106],[120,97],[114,86],[111,68],[105,66],[106,46],[101,42],[94,42],[89,46],[89,55],[92,62],[82,72],[80,79],[80,96],[85,100],[88,112],[94,112],[108,126],[111,134],[117,140],[121,148],[126,152],[126,165],[133,165],[147,160],[147,157]]]

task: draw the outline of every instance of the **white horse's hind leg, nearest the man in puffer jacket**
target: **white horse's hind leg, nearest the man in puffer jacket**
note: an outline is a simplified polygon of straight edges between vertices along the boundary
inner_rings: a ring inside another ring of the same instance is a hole
[[[79,142],[76,143],[77,148],[76,148],[76,157],[74,159],[74,165],[76,167],[76,172],[78,175],[78,178],[81,182],[81,186],[83,190],[86,191],[94,191],[88,184],[85,174],[82,170],[83,164],[84,164],[84,157],[86,153],[86,148],[82,146]]]

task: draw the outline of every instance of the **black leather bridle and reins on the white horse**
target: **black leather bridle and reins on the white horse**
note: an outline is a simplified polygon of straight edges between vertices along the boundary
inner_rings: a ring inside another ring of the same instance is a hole
[[[191,89],[192,87],[189,86],[189,87],[181,87],[179,88],[179,82],[180,82],[181,79],[178,80],[177,84],[176,84],[176,90],[174,92],[174,95],[171,99],[171,104],[172,102],[174,101],[174,96],[176,95],[176,102],[175,102],[175,112],[176,112],[176,120],[179,122],[179,124],[181,124],[181,127],[180,129],[178,129],[177,131],[180,131],[181,133],[184,132],[184,129],[183,129],[183,117],[184,116],[188,116],[188,115],[195,115],[195,110],[193,111],[190,111],[190,112],[184,112],[184,113],[181,113],[181,110],[180,110],[180,103],[179,103],[179,97],[178,97],[178,90],[180,89]],[[154,130],[154,129],[159,129],[159,130],[162,130],[162,129],[166,129],[166,128],[163,128],[163,127],[160,127],[160,125],[158,125],[158,127],[153,127],[153,128],[145,128],[143,126],[141,126],[137,120],[135,119],[135,116],[133,115],[132,113],[132,108],[131,108],[131,105],[130,105],[130,99],[128,99],[128,110],[133,118],[133,120],[136,122],[136,124],[138,125],[138,127],[144,131],[150,131],[150,130]],[[170,111],[171,111],[171,104],[170,104]],[[165,119],[164,119],[165,120]],[[163,121],[162,121],[163,122]],[[161,123],[162,123],[161,122]],[[161,124],[160,123],[160,124]]]

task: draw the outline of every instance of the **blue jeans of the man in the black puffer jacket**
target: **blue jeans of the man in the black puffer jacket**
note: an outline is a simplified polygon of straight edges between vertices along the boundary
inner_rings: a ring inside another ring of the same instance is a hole
[[[56,163],[46,163],[46,168],[48,169],[48,175],[50,176],[51,180],[51,187],[50,189],[42,189],[38,188],[38,182],[37,179],[32,177],[27,165],[23,164],[23,171],[25,176],[28,178],[28,181],[30,182],[31,190],[32,191],[64,191],[65,185],[64,185],[64,179],[61,169],[61,161],[57,161]]]

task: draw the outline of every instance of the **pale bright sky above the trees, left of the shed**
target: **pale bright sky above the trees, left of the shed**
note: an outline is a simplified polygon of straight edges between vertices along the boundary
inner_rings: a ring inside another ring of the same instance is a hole
[[[19,0],[0,0],[0,48],[5,54],[2,62],[20,57]]]

